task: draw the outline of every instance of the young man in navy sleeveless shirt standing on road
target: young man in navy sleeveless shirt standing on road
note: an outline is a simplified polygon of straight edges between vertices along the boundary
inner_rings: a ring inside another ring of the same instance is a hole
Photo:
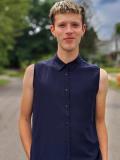
[[[108,160],[108,76],[79,54],[86,29],[84,8],[62,0],[49,16],[57,52],[28,66],[23,79],[19,130],[27,158]]]

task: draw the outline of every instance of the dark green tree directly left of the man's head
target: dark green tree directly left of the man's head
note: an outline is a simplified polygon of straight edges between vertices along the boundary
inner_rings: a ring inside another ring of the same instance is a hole
[[[24,30],[23,36],[16,39],[17,43],[14,47],[19,64],[26,60],[29,62],[38,60],[45,54],[55,52],[56,42],[49,30],[50,20],[48,15],[51,3],[52,1],[33,1],[28,16],[29,27]]]

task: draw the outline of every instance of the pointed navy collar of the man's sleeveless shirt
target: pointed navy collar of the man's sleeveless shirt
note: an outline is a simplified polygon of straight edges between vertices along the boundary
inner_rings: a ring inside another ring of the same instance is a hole
[[[62,70],[64,67],[68,67],[70,70],[72,70],[76,65],[78,65],[80,63],[80,55],[78,54],[78,56],[71,62],[69,63],[64,63],[57,54],[55,54],[55,56],[53,57],[53,62],[55,64],[55,67],[60,71]]]

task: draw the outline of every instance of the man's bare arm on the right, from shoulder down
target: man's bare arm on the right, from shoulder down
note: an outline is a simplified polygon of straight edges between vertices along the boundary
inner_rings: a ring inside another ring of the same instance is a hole
[[[108,90],[108,75],[103,69],[100,69],[99,90],[96,97],[96,128],[102,153],[102,160],[108,160],[108,135],[105,124],[105,106]]]

